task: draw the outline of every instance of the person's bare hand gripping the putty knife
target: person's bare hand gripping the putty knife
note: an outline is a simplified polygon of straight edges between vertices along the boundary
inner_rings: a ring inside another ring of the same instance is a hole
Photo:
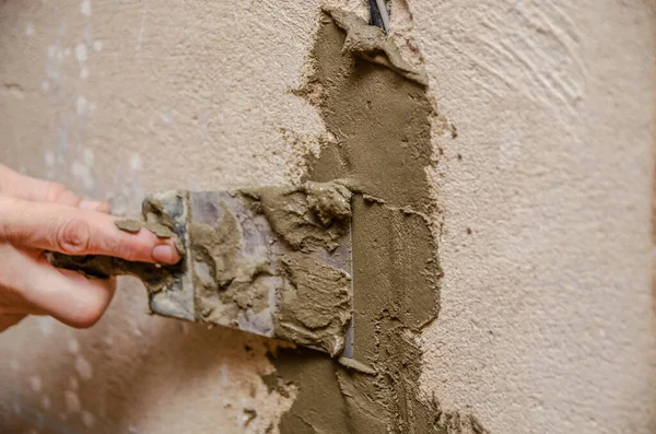
[[[62,185],[0,165],[0,331],[27,315],[87,328],[109,305],[115,279],[87,280],[57,269],[45,250],[165,265],[180,260],[169,238],[120,231],[115,220],[106,202],[83,200]]]

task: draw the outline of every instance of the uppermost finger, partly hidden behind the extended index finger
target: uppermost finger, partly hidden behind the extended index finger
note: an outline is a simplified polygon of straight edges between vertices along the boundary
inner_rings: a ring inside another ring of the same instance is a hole
[[[1,164],[0,195],[33,202],[61,203],[101,212],[109,212],[110,209],[107,202],[83,200],[61,184],[35,179]]]

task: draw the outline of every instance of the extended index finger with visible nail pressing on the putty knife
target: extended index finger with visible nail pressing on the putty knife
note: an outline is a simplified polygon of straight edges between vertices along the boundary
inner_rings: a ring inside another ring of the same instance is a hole
[[[141,262],[180,259],[171,238],[120,231],[115,218],[57,203],[0,198],[0,239],[67,255],[108,255]]]

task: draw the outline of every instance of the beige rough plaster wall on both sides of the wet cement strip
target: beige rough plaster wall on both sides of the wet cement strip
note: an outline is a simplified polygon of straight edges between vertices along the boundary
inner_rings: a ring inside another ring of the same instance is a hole
[[[434,137],[445,274],[422,389],[492,433],[653,432],[652,3],[408,3],[395,35],[458,132]],[[324,133],[289,92],[318,7],[0,2],[0,159],[131,214],[147,191],[297,180]],[[276,425],[293,394],[259,378],[263,340],[145,309],[126,280],[92,330],[1,335],[7,431]]]

